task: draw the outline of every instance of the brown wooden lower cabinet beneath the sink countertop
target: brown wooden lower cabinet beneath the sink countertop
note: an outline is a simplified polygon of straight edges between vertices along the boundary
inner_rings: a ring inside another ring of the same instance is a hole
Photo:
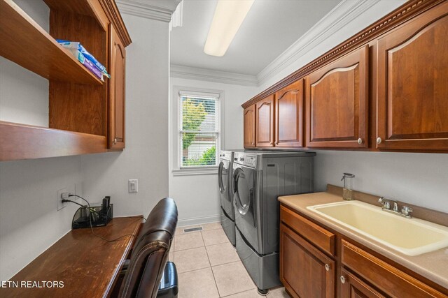
[[[281,204],[280,281],[293,297],[448,297],[447,289],[437,290],[342,234],[302,218]],[[337,242],[334,253],[322,246],[323,234],[332,233]]]

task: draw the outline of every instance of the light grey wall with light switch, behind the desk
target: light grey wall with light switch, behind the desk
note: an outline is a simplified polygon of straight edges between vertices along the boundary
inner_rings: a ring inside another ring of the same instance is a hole
[[[114,216],[144,214],[168,196],[169,31],[167,22],[123,15],[126,48],[126,148],[81,157],[83,191],[111,195]],[[139,179],[139,193],[127,180]]]

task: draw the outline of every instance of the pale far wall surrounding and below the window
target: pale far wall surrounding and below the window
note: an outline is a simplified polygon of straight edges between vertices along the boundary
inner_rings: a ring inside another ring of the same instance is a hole
[[[173,96],[173,86],[194,87],[224,91],[221,103],[223,109],[223,149],[242,149],[243,147],[243,117],[241,104],[256,91],[256,87],[246,87],[234,84],[204,82],[198,80],[171,77],[170,98]],[[170,115],[170,117],[172,117]],[[172,131],[170,139],[174,140]],[[173,168],[172,145],[170,148],[170,170]],[[207,223],[218,221],[220,214],[218,175],[201,174],[191,176],[174,176],[169,174],[169,196],[176,200],[179,208],[179,225]]]

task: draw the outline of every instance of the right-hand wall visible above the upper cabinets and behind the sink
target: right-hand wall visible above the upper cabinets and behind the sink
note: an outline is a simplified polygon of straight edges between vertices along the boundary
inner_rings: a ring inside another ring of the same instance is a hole
[[[253,95],[342,43],[404,2],[379,1],[347,24],[344,31],[339,31],[339,34],[331,36],[293,64],[283,68]],[[238,129],[242,131],[243,128],[241,126]],[[324,191],[326,184],[342,186],[342,173],[351,172],[356,175],[354,188],[358,191],[448,212],[448,154],[318,150],[315,161],[316,191]]]

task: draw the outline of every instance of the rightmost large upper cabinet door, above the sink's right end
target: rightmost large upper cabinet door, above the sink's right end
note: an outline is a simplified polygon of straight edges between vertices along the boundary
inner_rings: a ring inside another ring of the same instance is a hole
[[[448,150],[448,3],[378,40],[377,148]]]

